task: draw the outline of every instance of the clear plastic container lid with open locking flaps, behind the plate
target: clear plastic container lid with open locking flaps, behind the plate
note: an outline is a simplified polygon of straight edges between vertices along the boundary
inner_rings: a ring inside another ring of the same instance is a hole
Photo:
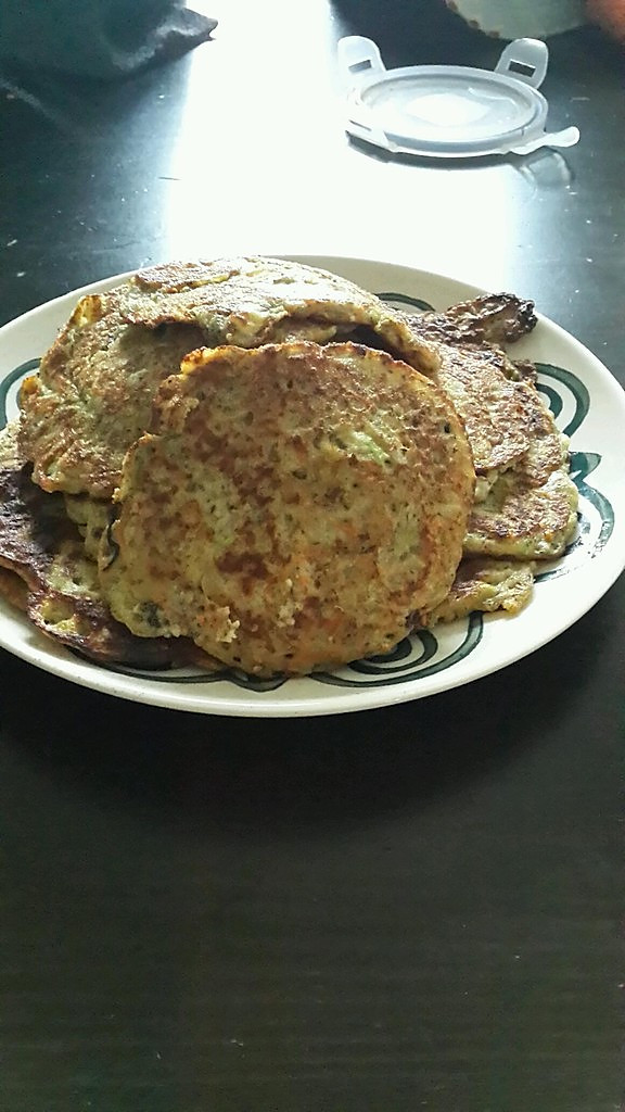
[[[571,147],[579,139],[577,128],[545,130],[548,105],[538,86],[548,49],[537,39],[510,42],[495,70],[387,70],[375,42],[360,36],[341,39],[338,51],[350,89],[346,130],[384,150],[472,158]]]

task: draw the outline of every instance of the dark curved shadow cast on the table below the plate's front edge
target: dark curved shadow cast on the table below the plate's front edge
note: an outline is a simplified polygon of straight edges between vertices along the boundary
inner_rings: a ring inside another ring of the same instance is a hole
[[[356,828],[465,788],[572,721],[598,666],[602,606],[517,665],[444,695],[329,718],[186,715],[116,701],[29,667],[3,693],[4,748],[81,802],[157,825],[297,836]],[[575,637],[575,649],[571,638]],[[568,644],[567,644],[568,643]],[[2,771],[0,770],[0,775]]]

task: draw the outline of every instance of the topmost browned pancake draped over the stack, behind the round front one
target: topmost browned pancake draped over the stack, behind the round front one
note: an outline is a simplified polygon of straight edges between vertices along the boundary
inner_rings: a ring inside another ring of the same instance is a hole
[[[112,496],[159,383],[199,346],[326,341],[366,325],[425,370],[437,359],[401,314],[351,282],[265,258],[171,264],[82,298],[20,394],[21,447],[44,490]]]

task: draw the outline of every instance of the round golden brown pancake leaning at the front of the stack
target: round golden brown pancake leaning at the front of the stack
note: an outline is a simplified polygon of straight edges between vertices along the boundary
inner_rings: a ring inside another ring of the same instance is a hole
[[[395,645],[446,596],[474,471],[445,395],[385,353],[194,353],[128,453],[100,583],[140,636],[259,675]]]

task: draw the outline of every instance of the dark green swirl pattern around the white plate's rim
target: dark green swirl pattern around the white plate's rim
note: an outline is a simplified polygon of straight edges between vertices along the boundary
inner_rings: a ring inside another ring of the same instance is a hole
[[[404,311],[407,306],[417,311],[431,309],[427,301],[406,294],[384,292],[379,296]],[[0,428],[7,424],[13,390],[17,394],[21,379],[37,370],[38,366],[38,359],[29,359],[6,375],[0,383]],[[543,363],[536,366],[538,389],[558,423],[558,428],[562,428],[566,436],[572,436],[579,429],[588,414],[591,400],[585,385],[573,371],[563,367]],[[588,475],[599,465],[601,458],[601,455],[593,451],[571,454],[571,475],[579,492],[578,529],[564,556],[546,566],[545,570],[536,576],[538,584],[566,575],[597,556],[609,540],[614,528],[613,507],[604,494],[586,481]],[[445,626],[438,636],[430,629],[419,629],[410,637],[405,637],[384,656],[356,661],[336,672],[317,672],[308,678],[335,687],[355,688],[386,687],[407,681],[425,679],[453,667],[473,653],[482,641],[484,620],[482,614],[472,614],[467,619]],[[110,672],[166,684],[215,684],[229,681],[249,692],[276,691],[288,683],[284,676],[259,679],[232,668],[224,668],[208,675],[196,669],[172,668],[168,672],[148,672],[116,665],[107,667]]]

